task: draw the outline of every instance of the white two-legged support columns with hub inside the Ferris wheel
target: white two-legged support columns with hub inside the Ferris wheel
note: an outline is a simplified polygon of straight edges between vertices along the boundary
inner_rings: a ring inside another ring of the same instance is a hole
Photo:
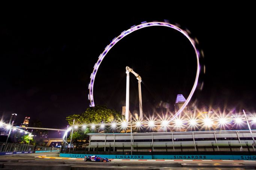
[[[139,120],[143,120],[143,113],[142,113],[142,89],[140,86],[140,82],[142,82],[142,78],[137,74],[136,72],[133,71],[132,68],[126,66],[126,107],[125,107],[125,119],[128,122],[129,118],[129,91],[130,91],[130,75],[129,73],[133,73],[135,77],[138,80],[139,84],[139,105],[140,105],[140,117]]]

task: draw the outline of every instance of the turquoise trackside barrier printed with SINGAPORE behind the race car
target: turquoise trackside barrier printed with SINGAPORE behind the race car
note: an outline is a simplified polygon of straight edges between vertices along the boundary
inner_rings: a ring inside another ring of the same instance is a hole
[[[60,154],[60,157],[84,158],[87,154]],[[91,156],[91,155],[89,155]],[[188,159],[188,160],[256,160],[256,155],[97,155],[109,159]]]

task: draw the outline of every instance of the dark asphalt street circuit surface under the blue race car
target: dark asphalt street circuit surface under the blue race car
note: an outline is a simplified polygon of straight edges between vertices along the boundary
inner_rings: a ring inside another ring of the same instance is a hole
[[[62,158],[57,153],[0,156],[0,170],[123,170],[123,169],[254,169],[256,161],[247,160],[121,160],[109,163],[84,162],[83,158]]]

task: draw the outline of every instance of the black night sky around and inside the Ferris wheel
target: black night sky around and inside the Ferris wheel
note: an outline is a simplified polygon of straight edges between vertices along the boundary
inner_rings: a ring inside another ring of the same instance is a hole
[[[241,108],[254,112],[255,31],[248,9],[200,9],[151,13],[9,12],[0,22],[0,117],[17,125],[25,116],[44,127],[65,128],[66,116],[89,107],[93,66],[114,37],[143,21],[178,23],[199,40],[205,53],[199,108]],[[94,84],[96,104],[122,111],[129,66],[142,77],[145,115],[160,105],[173,111],[177,94],[188,97],[196,74],[196,57],[187,38],[167,27],[138,30],[106,55]],[[137,79],[130,74],[130,110],[139,111]]]

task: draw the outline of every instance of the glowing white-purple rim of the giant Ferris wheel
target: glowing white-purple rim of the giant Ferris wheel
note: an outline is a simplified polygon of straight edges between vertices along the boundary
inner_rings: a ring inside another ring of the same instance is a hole
[[[183,109],[187,106],[187,104],[190,102],[196,87],[197,87],[197,83],[198,83],[198,79],[199,79],[199,73],[200,73],[200,65],[199,65],[199,57],[200,57],[200,53],[199,50],[196,48],[197,45],[197,41],[193,40],[187,33],[187,31],[182,30],[181,28],[179,28],[176,25],[170,24],[169,22],[158,22],[158,21],[153,21],[153,22],[142,22],[142,24],[140,25],[134,25],[132,26],[129,30],[123,31],[118,37],[115,37],[110,44],[108,44],[105,47],[105,50],[99,55],[99,59],[96,62],[96,64],[93,67],[93,71],[92,74],[90,76],[90,84],[89,84],[89,95],[88,95],[88,99],[90,100],[90,107],[95,106],[94,103],[94,99],[93,99],[93,85],[94,85],[94,81],[95,81],[95,77],[96,77],[96,73],[98,71],[99,65],[101,64],[102,60],[105,58],[105,56],[107,55],[107,53],[109,52],[109,50],[118,42],[120,41],[123,37],[125,37],[128,34],[133,33],[134,31],[140,30],[141,28],[146,28],[146,27],[152,27],[152,26],[162,26],[162,27],[169,27],[172,28],[174,30],[179,31],[180,33],[182,33],[183,35],[185,35],[185,37],[188,38],[188,40],[190,41],[190,43],[192,44],[194,51],[196,53],[196,60],[197,60],[197,71],[196,71],[196,79],[194,81],[194,85],[192,87],[192,90],[190,92],[190,94],[188,95],[187,100],[185,101],[185,103],[183,104],[183,106],[181,107],[181,109],[179,109],[179,111],[175,114],[175,116],[179,115]]]

